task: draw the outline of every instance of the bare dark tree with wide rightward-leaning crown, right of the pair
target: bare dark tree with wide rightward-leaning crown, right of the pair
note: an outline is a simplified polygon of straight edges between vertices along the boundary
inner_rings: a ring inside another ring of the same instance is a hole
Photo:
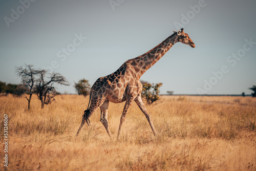
[[[44,108],[45,104],[50,104],[56,95],[59,93],[56,91],[54,84],[60,84],[69,86],[69,82],[59,73],[49,74],[46,70],[41,70],[39,78],[36,82],[36,94],[41,101],[41,108]]]

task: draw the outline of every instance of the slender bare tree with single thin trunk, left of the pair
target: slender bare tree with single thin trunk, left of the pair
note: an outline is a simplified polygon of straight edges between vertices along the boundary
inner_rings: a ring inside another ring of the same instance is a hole
[[[22,79],[22,82],[26,83],[29,87],[29,98],[25,96],[28,100],[28,110],[30,109],[32,95],[36,92],[34,86],[37,76],[41,72],[42,71],[40,70],[35,70],[33,65],[26,65],[26,63],[25,66],[15,67],[15,73],[17,74],[17,76],[20,77]]]

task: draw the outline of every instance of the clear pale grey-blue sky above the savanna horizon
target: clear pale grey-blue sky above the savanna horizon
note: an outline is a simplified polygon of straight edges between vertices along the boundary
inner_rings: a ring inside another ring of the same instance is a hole
[[[74,81],[116,71],[184,28],[196,48],[175,44],[141,77],[161,94],[250,94],[256,85],[256,1],[0,1],[0,80],[19,83],[24,63]]]

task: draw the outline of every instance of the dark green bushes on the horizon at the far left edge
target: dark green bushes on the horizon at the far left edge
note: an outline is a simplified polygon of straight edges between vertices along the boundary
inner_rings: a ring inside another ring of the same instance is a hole
[[[26,84],[12,84],[0,81],[0,95],[13,94],[14,96],[20,97],[23,94],[29,92],[28,86]]]

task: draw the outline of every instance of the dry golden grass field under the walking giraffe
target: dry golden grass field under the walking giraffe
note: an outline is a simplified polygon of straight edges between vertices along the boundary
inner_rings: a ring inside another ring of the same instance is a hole
[[[162,96],[147,105],[157,136],[136,103],[116,139],[124,103],[109,106],[110,139],[98,109],[84,125],[89,97],[59,96],[40,108],[33,96],[0,97],[1,141],[8,115],[8,167],[1,170],[256,170],[256,98]]]

